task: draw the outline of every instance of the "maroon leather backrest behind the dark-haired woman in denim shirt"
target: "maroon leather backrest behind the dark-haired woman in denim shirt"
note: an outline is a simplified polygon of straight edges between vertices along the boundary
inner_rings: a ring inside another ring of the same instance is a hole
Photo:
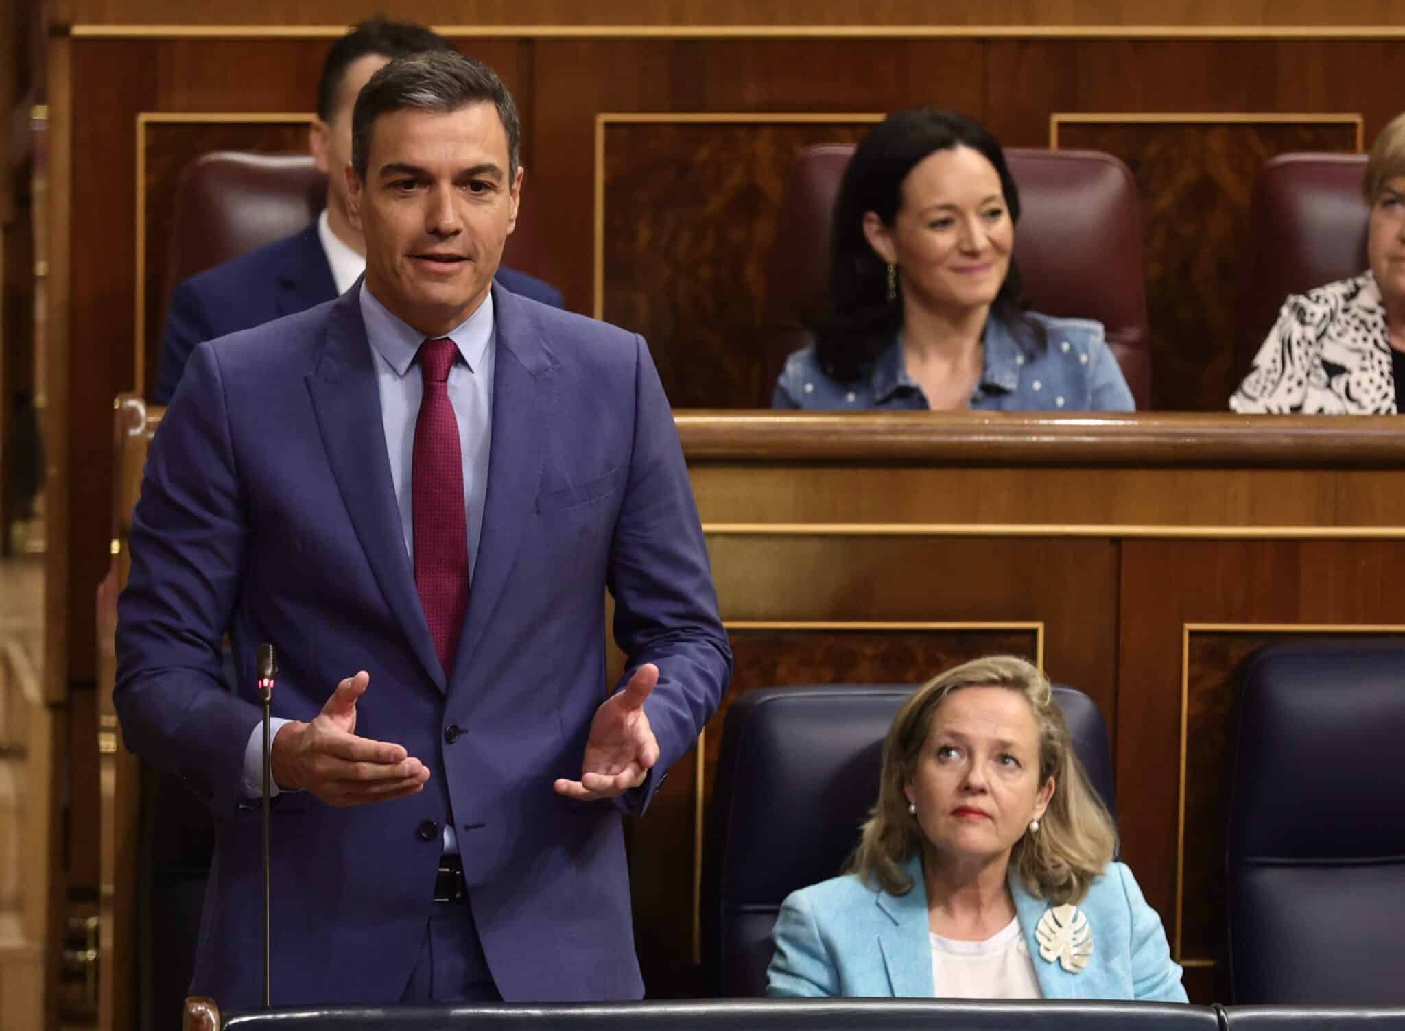
[[[767,390],[823,316],[835,198],[853,153],[851,143],[821,143],[791,166],[767,270]],[[1047,315],[1102,322],[1137,406],[1149,406],[1151,330],[1131,171],[1094,150],[1010,147],[1005,157],[1020,187],[1014,256],[1026,299]]]

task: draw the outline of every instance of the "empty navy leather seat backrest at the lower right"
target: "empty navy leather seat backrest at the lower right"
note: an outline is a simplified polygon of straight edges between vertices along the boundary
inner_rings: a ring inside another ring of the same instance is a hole
[[[1231,1000],[1405,1006],[1405,641],[1260,649],[1238,708]]]

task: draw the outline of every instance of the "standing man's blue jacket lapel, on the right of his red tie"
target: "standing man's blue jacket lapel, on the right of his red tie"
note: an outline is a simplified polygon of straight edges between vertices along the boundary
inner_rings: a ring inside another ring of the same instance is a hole
[[[555,407],[556,362],[517,298],[493,285],[493,440],[483,530],[459,636],[455,677],[466,669],[497,607],[531,521]],[[402,549],[403,551],[403,549]],[[603,587],[601,587],[603,590]]]

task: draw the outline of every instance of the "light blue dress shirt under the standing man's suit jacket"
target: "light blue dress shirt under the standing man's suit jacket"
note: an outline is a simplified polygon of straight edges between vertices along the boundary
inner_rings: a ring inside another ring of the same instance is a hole
[[[414,565],[414,492],[412,469],[414,459],[414,420],[420,413],[424,382],[414,364],[424,334],[403,322],[377,301],[362,281],[361,319],[375,360],[375,383],[381,395],[381,424],[385,430],[385,452],[391,459],[391,482],[395,503],[400,510],[400,532],[405,552]],[[448,372],[448,398],[458,420],[458,447],[464,457],[464,510],[468,513],[468,569],[472,579],[478,562],[478,541],[483,527],[483,499],[488,494],[488,455],[493,435],[493,295],[462,323],[448,331],[462,361]],[[330,695],[334,684],[327,685]],[[289,721],[270,721],[273,733]],[[263,791],[263,725],[254,728],[244,746],[244,794],[250,798]],[[278,785],[273,785],[278,794]],[[452,820],[444,822],[444,851],[457,853]]]

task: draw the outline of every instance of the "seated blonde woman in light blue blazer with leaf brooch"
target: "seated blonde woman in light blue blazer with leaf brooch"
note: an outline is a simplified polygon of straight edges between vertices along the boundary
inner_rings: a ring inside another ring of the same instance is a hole
[[[894,718],[849,872],[781,906],[769,994],[1186,1002],[1116,844],[1044,674],[958,666]]]

